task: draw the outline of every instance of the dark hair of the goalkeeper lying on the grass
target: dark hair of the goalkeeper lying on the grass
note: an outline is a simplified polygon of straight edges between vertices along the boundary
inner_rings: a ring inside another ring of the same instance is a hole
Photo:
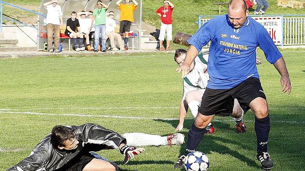
[[[68,128],[65,126],[55,126],[52,129],[51,133],[51,144],[54,148],[57,148],[58,146],[64,146],[63,143],[66,140],[72,140],[76,137],[75,130],[72,128]]]

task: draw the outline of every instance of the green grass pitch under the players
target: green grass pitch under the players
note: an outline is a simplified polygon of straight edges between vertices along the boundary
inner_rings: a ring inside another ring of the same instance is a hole
[[[268,146],[274,171],[300,171],[305,170],[304,50],[281,52],[290,72],[290,95],[281,92],[271,64],[263,58],[258,66],[271,115]],[[55,125],[90,122],[119,133],[174,133],[178,120],[168,118],[178,118],[182,96],[176,68],[173,54],[162,53],[0,59],[0,171],[27,157]],[[182,133],[187,135],[192,122],[188,114]],[[210,171],[261,170],[253,157],[252,112],[245,114],[245,124],[247,132],[236,134],[229,117],[214,118],[215,133],[198,147],[208,155]],[[125,171],[177,171],[173,164],[184,147],[147,146],[125,166],[118,151],[99,154]]]

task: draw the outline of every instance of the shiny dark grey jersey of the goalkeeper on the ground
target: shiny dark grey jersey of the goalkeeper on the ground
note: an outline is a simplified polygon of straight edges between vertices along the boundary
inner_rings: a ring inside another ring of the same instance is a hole
[[[126,140],[118,133],[101,127],[97,124],[84,124],[81,126],[67,126],[75,130],[79,141],[75,150],[61,151],[53,148],[47,135],[26,157],[7,171],[54,171],[80,153],[100,151],[104,149],[119,150],[120,143]]]

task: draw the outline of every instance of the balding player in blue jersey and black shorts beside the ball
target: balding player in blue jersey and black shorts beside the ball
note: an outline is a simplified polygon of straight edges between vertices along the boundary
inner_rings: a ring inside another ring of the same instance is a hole
[[[212,43],[208,61],[210,79],[198,109],[199,114],[188,132],[185,155],[196,150],[213,117],[232,112],[233,99],[237,99],[254,113],[257,159],[263,169],[270,170],[273,168],[267,149],[270,118],[255,65],[257,47],[280,73],[282,92],[290,94],[291,83],[282,54],[267,30],[248,14],[244,0],[230,0],[228,14],[211,19],[187,41],[190,47],[183,65],[177,69],[182,72],[182,77],[189,72],[190,64],[201,48],[209,41]],[[176,168],[183,167],[184,158],[184,155],[179,158]]]

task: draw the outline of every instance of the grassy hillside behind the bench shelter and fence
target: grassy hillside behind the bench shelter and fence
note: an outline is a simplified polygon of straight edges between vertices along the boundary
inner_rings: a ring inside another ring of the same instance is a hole
[[[20,5],[40,5],[40,0],[4,0],[13,4]],[[140,0],[137,0],[140,1]],[[173,11],[173,35],[176,32],[183,32],[192,35],[197,29],[198,15],[218,15],[219,6],[213,5],[214,2],[228,2],[229,0],[171,0],[175,5]],[[270,7],[266,14],[305,14],[304,9],[292,9],[278,7],[276,0],[268,0]],[[143,21],[147,24],[160,28],[160,18],[155,14],[155,11],[163,5],[163,0],[143,0]],[[254,6],[254,8],[256,5]],[[253,14],[253,9],[250,9],[250,14]],[[221,14],[227,13],[225,5],[221,8]],[[16,18],[26,16],[28,13],[21,14],[15,12],[12,14],[11,9],[4,8],[4,14],[10,16],[16,15]],[[20,16],[21,15],[21,16]],[[178,46],[177,46],[178,47]]]

